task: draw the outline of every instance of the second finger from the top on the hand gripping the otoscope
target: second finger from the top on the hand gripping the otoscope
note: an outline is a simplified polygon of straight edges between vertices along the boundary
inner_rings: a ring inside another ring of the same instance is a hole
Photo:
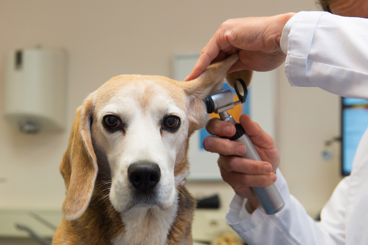
[[[206,151],[221,155],[243,155],[246,150],[245,145],[241,142],[215,136],[207,136],[203,140],[203,147]]]

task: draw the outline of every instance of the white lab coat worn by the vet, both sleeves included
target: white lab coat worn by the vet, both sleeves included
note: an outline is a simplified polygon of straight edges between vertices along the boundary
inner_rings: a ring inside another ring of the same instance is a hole
[[[280,46],[292,86],[320,87],[345,97],[368,99],[368,19],[326,12],[300,12],[286,24]],[[275,215],[257,208],[251,215],[235,196],[227,223],[250,245],[368,244],[368,130],[358,146],[353,170],[336,187],[315,222],[290,195],[277,170],[276,187],[285,207]]]

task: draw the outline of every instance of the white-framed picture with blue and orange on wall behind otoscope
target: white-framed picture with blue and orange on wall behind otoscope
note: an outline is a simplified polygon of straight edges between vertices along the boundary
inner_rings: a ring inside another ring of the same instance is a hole
[[[175,54],[173,57],[173,79],[183,81],[192,71],[199,58],[199,53]],[[277,71],[254,72],[251,86],[248,91],[247,102],[234,108],[235,114],[247,113],[252,120],[275,138],[275,101],[276,101]],[[229,89],[224,83],[225,90]],[[240,107],[237,108],[237,107]],[[237,120],[237,116],[234,116]],[[190,180],[220,180],[222,179],[216,153],[203,149],[202,142],[206,136],[206,130],[197,130],[189,141],[188,158],[190,162]]]

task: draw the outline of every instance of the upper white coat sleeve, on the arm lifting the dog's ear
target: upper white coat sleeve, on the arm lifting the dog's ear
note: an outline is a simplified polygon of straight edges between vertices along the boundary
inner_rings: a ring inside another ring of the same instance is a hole
[[[280,40],[287,54],[285,73],[289,83],[367,100],[367,30],[368,19],[364,18],[320,11],[294,15]]]

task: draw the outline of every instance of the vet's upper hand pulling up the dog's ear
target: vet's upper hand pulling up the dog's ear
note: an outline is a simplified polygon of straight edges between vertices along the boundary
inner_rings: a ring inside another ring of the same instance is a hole
[[[280,39],[286,22],[295,13],[272,17],[229,19],[222,23],[202,50],[186,81],[197,78],[212,61],[239,53],[239,60],[228,73],[240,70],[271,71],[286,58],[280,48]]]

